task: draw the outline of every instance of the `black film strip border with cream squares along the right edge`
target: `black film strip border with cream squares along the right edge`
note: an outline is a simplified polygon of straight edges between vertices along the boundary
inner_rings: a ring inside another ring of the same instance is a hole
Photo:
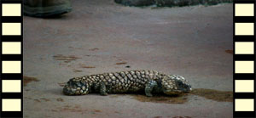
[[[255,117],[255,0],[235,0],[234,117]]]

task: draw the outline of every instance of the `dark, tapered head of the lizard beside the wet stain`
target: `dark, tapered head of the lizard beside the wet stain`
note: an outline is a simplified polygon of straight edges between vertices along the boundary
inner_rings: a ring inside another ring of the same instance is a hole
[[[189,85],[189,82],[183,76],[165,76],[161,81],[161,85],[163,93],[168,95],[192,91],[191,85]]]

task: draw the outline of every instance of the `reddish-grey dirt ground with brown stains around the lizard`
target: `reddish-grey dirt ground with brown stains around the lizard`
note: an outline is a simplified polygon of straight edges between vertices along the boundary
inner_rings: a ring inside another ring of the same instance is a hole
[[[216,99],[233,88],[231,3],[135,8],[113,0],[72,2],[73,11],[60,18],[24,17],[26,118],[232,117],[233,103]],[[169,102],[61,93],[74,76],[142,69],[184,76],[200,93]]]

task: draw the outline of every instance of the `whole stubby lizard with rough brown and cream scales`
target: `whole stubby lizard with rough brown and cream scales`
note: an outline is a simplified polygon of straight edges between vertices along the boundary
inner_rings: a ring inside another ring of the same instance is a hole
[[[144,91],[146,96],[152,93],[187,93],[192,88],[182,76],[166,75],[153,70],[130,70],[98,75],[74,77],[63,88],[66,95],[84,95],[88,93],[132,93]]]

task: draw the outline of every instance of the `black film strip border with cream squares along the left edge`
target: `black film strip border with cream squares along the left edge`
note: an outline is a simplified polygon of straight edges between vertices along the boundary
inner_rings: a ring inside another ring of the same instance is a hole
[[[1,116],[23,115],[23,3],[1,0]]]

